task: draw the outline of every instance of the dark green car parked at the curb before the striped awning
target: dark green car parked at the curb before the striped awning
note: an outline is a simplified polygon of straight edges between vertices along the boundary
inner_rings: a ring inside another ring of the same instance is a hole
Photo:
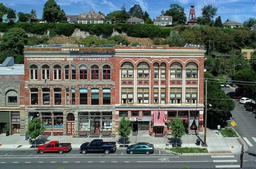
[[[154,144],[147,142],[138,142],[137,144],[132,144],[126,149],[127,154],[151,154],[154,153]]]

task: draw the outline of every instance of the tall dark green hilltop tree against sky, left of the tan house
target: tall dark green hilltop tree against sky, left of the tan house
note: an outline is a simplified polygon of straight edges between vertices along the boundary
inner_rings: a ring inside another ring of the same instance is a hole
[[[60,10],[59,5],[54,0],[48,0],[45,3],[44,11],[42,12],[42,20],[47,22],[58,22],[65,20],[66,14],[63,10]]]

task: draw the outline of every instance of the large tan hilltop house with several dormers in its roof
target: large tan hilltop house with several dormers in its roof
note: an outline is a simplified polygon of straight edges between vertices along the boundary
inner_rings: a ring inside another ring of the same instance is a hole
[[[89,13],[81,13],[77,17],[78,23],[110,23],[111,20],[106,20],[104,14],[102,13],[95,13],[92,9]]]

